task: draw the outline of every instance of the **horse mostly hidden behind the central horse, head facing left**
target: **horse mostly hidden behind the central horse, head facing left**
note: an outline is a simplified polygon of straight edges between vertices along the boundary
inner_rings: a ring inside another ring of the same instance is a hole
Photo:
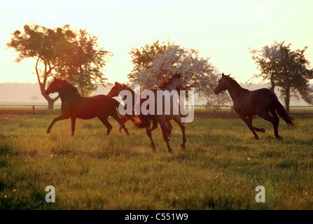
[[[110,92],[107,94],[107,96],[108,97],[117,97],[120,94],[120,92],[123,90],[128,90],[132,93],[132,115],[125,114],[124,116],[122,116],[121,119],[123,120],[123,123],[126,123],[127,120],[131,120],[132,123],[134,123],[134,118],[135,118],[135,116],[134,116],[134,104],[136,103],[136,102],[134,102],[134,100],[135,100],[134,90],[132,90],[132,88],[128,87],[125,84],[121,84],[121,83],[116,82],[115,85],[111,88]],[[168,126],[167,134],[170,137],[172,134],[172,129],[173,129],[173,126],[170,123],[170,121],[167,121],[167,126]],[[152,120],[151,132],[153,130],[155,130],[156,128],[158,128],[158,121]],[[120,130],[121,129],[122,129],[122,127],[120,127]]]

